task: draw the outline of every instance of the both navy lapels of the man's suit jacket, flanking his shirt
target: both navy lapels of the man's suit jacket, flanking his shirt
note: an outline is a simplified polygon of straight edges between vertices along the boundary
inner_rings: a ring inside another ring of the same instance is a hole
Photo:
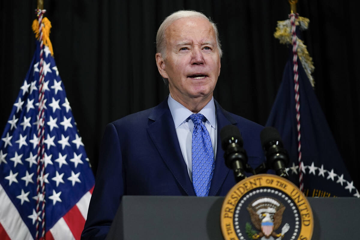
[[[217,150],[215,159],[215,168],[211,180],[211,187],[209,196],[216,195],[226,176],[229,173],[229,168],[226,167],[224,161],[224,151],[221,148],[220,130],[222,127],[237,123],[233,117],[230,116],[220,105],[214,100],[217,118]],[[170,109],[167,104],[167,98],[153,108],[149,115],[148,133],[159,151],[171,173],[176,178],[179,185],[183,188],[186,194],[195,196],[195,191],[192,182],[190,181],[187,167],[181,153],[179,140],[177,139],[174,120],[172,119]]]

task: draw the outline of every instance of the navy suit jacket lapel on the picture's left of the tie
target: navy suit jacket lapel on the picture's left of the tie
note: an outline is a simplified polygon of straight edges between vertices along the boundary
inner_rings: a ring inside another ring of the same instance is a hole
[[[194,196],[167,99],[153,109],[149,119],[154,122],[148,125],[148,133],[162,159],[186,194]]]

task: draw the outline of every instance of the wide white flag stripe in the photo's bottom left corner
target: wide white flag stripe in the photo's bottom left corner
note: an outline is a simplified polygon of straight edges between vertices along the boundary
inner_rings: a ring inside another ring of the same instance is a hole
[[[10,239],[33,239],[15,205],[0,184],[0,223]]]

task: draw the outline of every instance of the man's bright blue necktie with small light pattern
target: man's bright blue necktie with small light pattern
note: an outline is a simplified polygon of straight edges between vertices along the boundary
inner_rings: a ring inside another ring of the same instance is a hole
[[[207,196],[215,166],[214,151],[209,132],[203,124],[204,115],[192,114],[190,119],[194,123],[192,138],[194,190],[197,196]]]

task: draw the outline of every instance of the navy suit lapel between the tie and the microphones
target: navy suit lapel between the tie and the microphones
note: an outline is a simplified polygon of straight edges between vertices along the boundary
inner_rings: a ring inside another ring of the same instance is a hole
[[[220,130],[229,124],[237,123],[228,112],[226,112],[220,105],[215,101],[216,118],[217,118],[217,146],[216,146],[216,157],[215,157],[215,168],[211,180],[211,186],[209,190],[209,196],[215,196],[220,190],[220,187],[225,181],[230,169],[226,167],[224,160],[224,150],[221,148]]]

